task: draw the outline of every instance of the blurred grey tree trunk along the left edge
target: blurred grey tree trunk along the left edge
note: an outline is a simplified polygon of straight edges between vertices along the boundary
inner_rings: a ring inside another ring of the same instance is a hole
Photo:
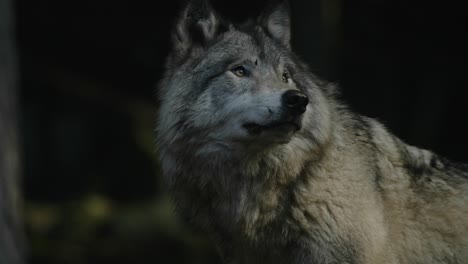
[[[0,0],[0,264],[23,263],[13,10]]]

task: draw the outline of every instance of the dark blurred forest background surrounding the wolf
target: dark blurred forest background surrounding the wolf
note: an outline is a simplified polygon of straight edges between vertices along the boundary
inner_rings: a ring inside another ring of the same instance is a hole
[[[18,131],[28,263],[219,263],[173,214],[154,153],[155,84],[181,2],[0,2],[11,6],[0,10],[0,25],[9,17],[14,29],[15,46],[0,43],[0,51],[16,55],[9,76],[18,80],[18,125],[10,125]],[[265,2],[214,5],[242,21]],[[468,163],[462,6],[292,0],[293,48],[339,83],[356,111],[412,145]]]

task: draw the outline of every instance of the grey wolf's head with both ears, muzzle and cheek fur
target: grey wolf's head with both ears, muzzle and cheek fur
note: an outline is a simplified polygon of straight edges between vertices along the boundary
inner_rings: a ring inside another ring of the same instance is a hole
[[[160,148],[243,155],[325,140],[327,95],[291,51],[289,13],[277,2],[234,25],[207,1],[188,3],[159,87]]]

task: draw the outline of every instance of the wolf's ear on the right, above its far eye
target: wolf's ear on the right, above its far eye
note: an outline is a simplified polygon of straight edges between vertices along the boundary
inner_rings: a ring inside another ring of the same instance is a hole
[[[260,16],[259,24],[267,34],[286,47],[291,42],[291,19],[287,0],[273,1],[269,8]]]

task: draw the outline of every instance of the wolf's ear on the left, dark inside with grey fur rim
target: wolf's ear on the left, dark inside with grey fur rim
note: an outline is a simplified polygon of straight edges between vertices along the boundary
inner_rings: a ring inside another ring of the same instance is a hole
[[[183,54],[194,45],[205,46],[218,34],[220,19],[207,0],[191,0],[172,32],[174,51]]]

